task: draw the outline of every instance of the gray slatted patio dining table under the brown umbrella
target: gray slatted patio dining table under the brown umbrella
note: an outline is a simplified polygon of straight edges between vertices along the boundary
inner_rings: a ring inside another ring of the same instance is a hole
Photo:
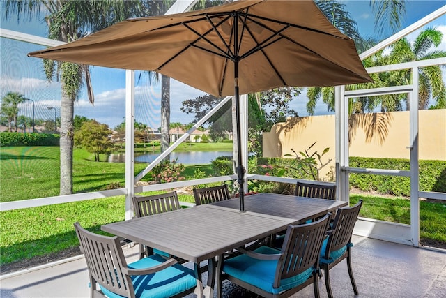
[[[245,212],[238,210],[238,204],[238,198],[203,204],[109,223],[101,229],[193,262],[196,269],[200,262],[208,260],[208,281],[203,296],[213,297],[217,255],[347,203],[261,193],[245,197]]]

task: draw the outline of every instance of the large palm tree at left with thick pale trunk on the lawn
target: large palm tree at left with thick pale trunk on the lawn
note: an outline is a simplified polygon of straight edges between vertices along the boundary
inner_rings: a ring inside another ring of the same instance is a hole
[[[38,16],[45,13],[49,34],[48,38],[66,43],[86,36],[90,31],[98,31],[126,17],[144,14],[142,1],[53,1],[53,0],[8,0],[4,2],[6,17],[17,13],[20,17]],[[143,13],[141,13],[141,11]],[[94,101],[91,89],[89,66],[54,61],[44,61],[48,80],[61,78],[61,178],[60,195],[72,193],[72,149],[73,149],[73,114],[74,102],[86,84],[91,103]]]

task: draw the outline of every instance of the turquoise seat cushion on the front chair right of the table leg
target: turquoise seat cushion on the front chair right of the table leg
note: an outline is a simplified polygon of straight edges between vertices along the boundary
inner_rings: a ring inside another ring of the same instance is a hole
[[[277,249],[268,246],[261,246],[255,251],[268,255],[280,253]],[[230,276],[255,285],[257,288],[261,288],[272,294],[279,294],[279,292],[289,290],[304,283],[314,272],[314,268],[310,267],[301,274],[282,279],[280,281],[280,287],[274,288],[277,262],[277,260],[258,260],[248,255],[238,255],[235,258],[224,260],[223,271]]]

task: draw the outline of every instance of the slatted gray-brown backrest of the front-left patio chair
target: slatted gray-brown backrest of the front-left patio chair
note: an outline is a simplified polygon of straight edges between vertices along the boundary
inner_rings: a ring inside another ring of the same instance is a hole
[[[127,268],[124,253],[118,237],[94,234],[75,223],[77,238],[90,274],[91,297],[96,282],[117,295],[132,297],[134,288]]]

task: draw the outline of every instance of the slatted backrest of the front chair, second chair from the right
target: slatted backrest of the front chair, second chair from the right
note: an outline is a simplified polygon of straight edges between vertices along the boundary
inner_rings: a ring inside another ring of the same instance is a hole
[[[286,229],[284,244],[277,265],[275,283],[301,274],[310,267],[318,267],[319,255],[325,233],[328,228],[328,219],[325,215],[318,221],[305,225],[289,225]]]

